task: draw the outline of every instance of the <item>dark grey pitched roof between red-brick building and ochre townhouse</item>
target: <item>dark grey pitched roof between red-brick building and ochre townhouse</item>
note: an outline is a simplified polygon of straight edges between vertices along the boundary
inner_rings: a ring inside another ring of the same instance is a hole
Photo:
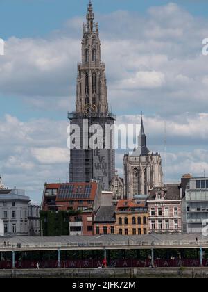
[[[116,206],[101,206],[94,218],[94,222],[115,222]]]

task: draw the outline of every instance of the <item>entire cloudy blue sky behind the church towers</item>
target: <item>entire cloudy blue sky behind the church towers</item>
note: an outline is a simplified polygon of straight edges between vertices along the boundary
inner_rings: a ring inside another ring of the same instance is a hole
[[[0,0],[0,173],[35,202],[44,182],[67,180],[67,111],[75,109],[87,3]],[[139,123],[144,111],[148,148],[166,160],[166,182],[208,176],[207,1],[92,3],[118,122]],[[116,154],[120,175],[123,152]]]

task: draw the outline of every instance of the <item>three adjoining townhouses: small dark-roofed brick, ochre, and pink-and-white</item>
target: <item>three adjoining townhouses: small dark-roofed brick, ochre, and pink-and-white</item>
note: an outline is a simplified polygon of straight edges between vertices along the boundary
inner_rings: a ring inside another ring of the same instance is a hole
[[[102,207],[94,218],[94,234],[146,235],[182,232],[180,184],[153,188],[149,195],[119,200],[114,207]]]

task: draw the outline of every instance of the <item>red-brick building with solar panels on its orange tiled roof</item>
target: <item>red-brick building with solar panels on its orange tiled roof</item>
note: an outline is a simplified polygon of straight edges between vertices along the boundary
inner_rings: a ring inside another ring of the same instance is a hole
[[[98,209],[101,195],[97,182],[45,184],[42,211],[80,211],[69,218],[69,234],[92,236],[93,212]]]

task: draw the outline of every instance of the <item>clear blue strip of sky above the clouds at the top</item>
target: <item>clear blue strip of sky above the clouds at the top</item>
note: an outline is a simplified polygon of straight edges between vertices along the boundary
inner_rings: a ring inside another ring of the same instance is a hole
[[[166,0],[94,0],[94,10],[110,13],[116,10],[145,13],[150,6],[165,5]],[[206,0],[175,0],[193,15],[208,15]],[[13,35],[39,37],[60,28],[62,24],[77,15],[84,15],[86,0],[1,0],[0,27],[2,38]]]

